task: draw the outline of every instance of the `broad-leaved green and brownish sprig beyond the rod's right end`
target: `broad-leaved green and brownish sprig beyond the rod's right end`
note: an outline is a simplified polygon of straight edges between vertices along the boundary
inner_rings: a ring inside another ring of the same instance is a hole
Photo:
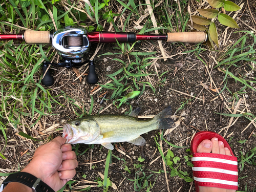
[[[214,41],[219,47],[218,32],[214,23],[216,18],[218,18],[219,22],[224,26],[239,28],[236,21],[232,17],[222,13],[222,8],[226,11],[237,11],[241,8],[237,4],[225,0],[208,0],[208,3],[210,6],[216,9],[198,9],[200,15],[206,18],[197,15],[193,15],[191,18],[193,20],[195,29],[198,29],[199,31],[207,31],[210,46],[214,47],[212,44],[212,41]],[[212,19],[212,21],[207,18]],[[204,26],[209,26],[209,28],[207,29]]]

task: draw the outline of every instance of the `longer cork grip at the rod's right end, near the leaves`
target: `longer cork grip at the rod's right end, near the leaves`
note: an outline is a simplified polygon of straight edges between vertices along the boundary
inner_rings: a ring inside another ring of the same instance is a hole
[[[199,43],[207,40],[204,31],[167,33],[167,42],[191,42]]]

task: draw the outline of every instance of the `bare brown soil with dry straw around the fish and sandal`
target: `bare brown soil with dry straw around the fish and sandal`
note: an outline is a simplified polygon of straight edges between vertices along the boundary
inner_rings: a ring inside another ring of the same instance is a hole
[[[254,10],[255,11],[255,10]],[[247,25],[244,25],[243,22],[249,20],[251,25],[251,18],[246,14],[238,15],[237,23],[240,26],[240,30],[249,30]],[[243,21],[243,22],[242,22]],[[222,34],[225,28],[218,28],[220,34]],[[254,28],[255,29],[255,28]],[[234,29],[228,29],[227,34],[231,34],[229,37],[229,42],[235,42],[238,38],[240,38],[244,33],[233,33]],[[250,43],[248,39],[246,44]],[[91,51],[88,53],[87,57],[89,58],[94,54],[97,45],[92,45]],[[186,50],[193,50],[194,45],[186,45]],[[104,45],[97,53],[97,55],[104,54],[106,52],[120,52],[116,48],[117,45]],[[235,117],[233,121],[236,120],[234,124],[227,128],[231,117],[220,116],[217,113],[230,113],[234,111],[236,106],[238,106],[239,114],[241,111],[245,110],[246,112],[256,114],[256,97],[255,92],[247,88],[244,91],[244,94],[239,95],[239,99],[241,102],[238,103],[238,100],[233,100],[233,95],[231,95],[227,90],[224,90],[220,95],[217,95],[220,90],[222,90],[224,83],[222,83],[225,74],[220,72],[218,69],[213,69],[216,63],[213,58],[218,58],[221,54],[220,52],[215,51],[203,51],[200,53],[200,57],[207,63],[207,66],[204,65],[202,61],[200,61],[194,53],[180,54],[184,47],[181,47],[180,44],[168,44],[163,42],[163,47],[165,48],[166,53],[169,55],[176,55],[172,59],[167,59],[164,61],[163,59],[157,60],[155,66],[153,66],[147,72],[155,72],[157,69],[158,74],[162,74],[165,71],[169,71],[165,73],[162,77],[164,79],[166,77],[166,81],[164,83],[159,83],[159,79],[157,75],[150,76],[152,84],[155,87],[155,94],[150,87],[146,87],[144,93],[139,98],[136,98],[131,102],[133,108],[139,106],[141,108],[141,116],[147,115],[156,115],[163,109],[165,109],[168,105],[172,106],[173,113],[180,118],[184,118],[181,120],[180,125],[167,137],[165,137],[170,143],[177,144],[179,146],[187,146],[184,148],[172,148],[172,151],[175,156],[180,157],[180,166],[179,170],[183,172],[187,172],[188,176],[192,177],[191,167],[187,166],[185,163],[184,156],[189,155],[186,150],[189,148],[189,142],[191,137],[195,132],[198,131],[214,131],[220,133],[222,136],[225,135],[225,138],[230,142],[230,146],[233,150],[233,153],[241,159],[241,154],[243,156],[246,155],[253,147],[255,147],[256,143],[256,134],[255,127],[253,124],[247,125],[250,123],[248,119],[245,117],[239,117],[238,119]],[[206,48],[206,47],[205,47]],[[223,48],[223,46],[222,46]],[[138,42],[135,46],[135,50],[137,51],[158,51],[158,44],[156,42]],[[158,55],[160,55],[158,53]],[[99,83],[104,84],[108,82],[110,79],[106,76],[107,74],[112,74],[119,70],[122,65],[120,62],[112,60],[113,58],[119,58],[125,62],[129,62],[130,60],[134,60],[134,56],[127,55],[102,55],[95,57],[95,65],[96,65],[96,73],[99,76]],[[141,59],[142,56],[139,56]],[[79,68],[80,73],[82,73],[86,67]],[[109,70],[110,69],[110,70]],[[91,97],[90,93],[95,88],[95,85],[88,84],[86,82],[86,76],[82,76],[83,79],[80,81],[79,79],[73,81],[76,78],[75,72],[73,70],[67,69],[62,73],[59,73],[62,69],[55,68],[54,74],[56,82],[54,84],[54,88],[58,92],[65,92],[66,96],[75,99],[78,105],[84,106],[87,112],[89,112],[91,106]],[[243,74],[247,75],[247,79],[250,80],[252,77],[255,77],[254,70],[248,66],[248,63],[244,63],[242,67],[239,68],[239,72],[236,71],[237,68],[230,68],[234,74]],[[118,77],[117,77],[118,78]],[[143,77],[145,78],[145,77]],[[143,78],[141,81],[143,81]],[[144,81],[148,81],[144,79]],[[132,79],[127,83],[127,86],[133,86]],[[139,86],[142,90],[143,85]],[[237,92],[243,88],[243,84],[240,82],[234,81],[232,78],[228,78],[227,87],[230,89],[232,93]],[[253,88],[256,88],[255,83],[252,84]],[[217,90],[218,89],[218,90]],[[175,91],[176,90],[176,91]],[[178,91],[178,92],[177,92]],[[129,107],[127,105],[122,105],[120,109],[116,109],[115,106],[110,106],[106,109],[111,103],[111,100],[104,101],[103,104],[99,104],[102,95],[105,92],[102,89],[101,92],[97,92],[93,95],[94,98],[94,107],[92,115],[97,114],[101,108],[105,109],[102,114],[122,114],[126,111],[129,111]],[[108,92],[106,99],[109,99],[112,95],[112,92]],[[188,96],[190,95],[190,96]],[[197,98],[194,98],[196,96]],[[58,98],[60,103],[67,103],[66,98],[60,97]],[[234,101],[234,102],[233,102]],[[184,108],[176,111],[180,108],[181,104],[184,104]],[[81,114],[81,110],[79,108],[74,109],[78,114]],[[68,105],[66,108],[56,108],[53,110],[54,114],[49,117],[44,117],[44,120],[41,120],[41,123],[47,122],[46,129],[50,127],[54,123],[61,123],[66,120],[77,118],[75,113],[73,112],[72,106]],[[176,121],[178,119],[175,119]],[[60,125],[61,127],[61,125]],[[247,129],[241,133],[245,127]],[[36,128],[39,130],[39,125]],[[165,130],[164,130],[165,132]],[[148,179],[148,183],[155,182],[154,186],[150,191],[167,191],[167,184],[164,173],[155,174],[154,172],[159,172],[159,170],[163,170],[162,158],[158,158],[160,153],[157,149],[156,142],[154,137],[158,137],[159,139],[159,131],[152,131],[147,134],[142,135],[142,137],[146,140],[146,146],[141,148],[140,146],[133,145],[128,142],[117,143],[115,147],[121,148],[123,152],[126,153],[127,156],[122,155],[116,149],[113,150],[112,154],[116,157],[124,159],[126,162],[126,166],[131,168],[131,174],[124,170],[124,161],[118,160],[115,157],[112,157],[112,164],[110,165],[109,170],[109,178],[112,182],[118,186],[118,191],[134,191],[134,181],[129,181],[124,179],[125,177],[134,180],[135,173],[139,170],[139,168],[134,167],[135,164],[143,164],[143,172],[146,176],[152,177]],[[2,134],[2,133],[1,133]],[[0,167],[2,169],[20,169],[24,168],[29,162],[30,158],[33,156],[34,150],[41,144],[45,142],[37,142],[37,141],[28,141],[22,138],[19,138],[11,127],[7,130],[8,134],[8,143],[5,151],[3,152],[4,156],[7,160],[0,159]],[[31,133],[32,136],[35,134]],[[62,136],[62,131],[50,133],[52,137]],[[2,140],[3,136],[0,135]],[[238,141],[247,140],[245,143],[239,143]],[[181,141],[181,142],[180,142]],[[3,147],[3,143],[1,143],[1,147]],[[85,150],[87,150],[88,145],[79,144],[78,153],[81,154]],[[163,151],[166,151],[170,148],[166,142],[163,142]],[[28,150],[28,151],[27,151]],[[25,154],[23,152],[27,151]],[[81,156],[78,156],[78,168],[77,174],[74,180],[81,181],[84,179],[84,175],[86,175],[86,180],[95,181],[99,178],[98,172],[104,174],[105,168],[105,160],[108,155],[108,150],[101,145],[95,145],[94,148],[84,153]],[[139,157],[144,157],[144,162],[139,162]],[[158,158],[158,159],[157,159]],[[90,160],[92,162],[98,163],[92,164],[93,167],[90,169]],[[156,160],[156,161],[154,161]],[[154,161],[154,162],[153,162]],[[241,161],[241,160],[240,160]],[[152,163],[153,162],[153,163]],[[152,164],[151,164],[152,163]],[[178,166],[179,164],[177,164]],[[247,185],[250,191],[253,191],[253,188],[256,186],[256,176],[255,176],[255,166],[244,164],[243,171],[241,172],[241,164],[239,164],[239,190],[245,190],[245,186]],[[170,168],[166,167],[167,172],[170,172]],[[142,177],[142,174],[139,176]],[[247,176],[247,177],[246,177]],[[137,175],[136,175],[137,177]],[[245,178],[243,178],[245,177]],[[4,177],[2,178],[4,179]],[[194,182],[186,182],[184,179],[176,177],[170,177],[170,174],[167,173],[168,186],[170,191],[195,191]],[[0,178],[1,182],[1,178]],[[78,183],[79,185],[90,185],[88,183]],[[97,184],[92,184],[97,185]],[[120,186],[119,186],[120,185]],[[68,189],[69,190],[69,189]],[[74,189],[75,190],[75,189]],[[91,187],[89,191],[103,191],[102,187]],[[117,191],[113,188],[109,188],[109,191]],[[141,189],[141,191],[146,191],[146,188]]]

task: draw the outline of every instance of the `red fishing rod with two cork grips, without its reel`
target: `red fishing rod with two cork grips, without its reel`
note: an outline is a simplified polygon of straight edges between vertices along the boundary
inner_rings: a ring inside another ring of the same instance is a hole
[[[69,28],[71,29],[71,28]],[[79,29],[79,28],[75,28]],[[83,28],[82,28],[83,29]],[[59,31],[59,30],[58,30]],[[54,33],[56,34],[56,32]],[[51,44],[54,34],[50,31],[25,31],[19,34],[0,34],[2,40],[25,40],[27,44]],[[207,34],[203,31],[175,32],[163,35],[138,35],[126,32],[90,32],[87,33],[89,42],[115,43],[135,42],[137,40],[164,40],[167,42],[199,43],[207,40]],[[70,38],[70,36],[69,36]],[[81,41],[82,35],[76,36],[73,42]]]

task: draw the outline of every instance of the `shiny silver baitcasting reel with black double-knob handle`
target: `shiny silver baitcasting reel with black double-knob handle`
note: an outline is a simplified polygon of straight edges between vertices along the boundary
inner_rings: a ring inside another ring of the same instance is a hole
[[[42,70],[45,73],[48,65],[57,67],[79,67],[86,63],[89,64],[89,74],[87,82],[94,84],[98,81],[98,76],[95,73],[95,66],[92,60],[82,62],[84,53],[90,50],[90,41],[87,37],[87,30],[81,27],[68,26],[56,31],[53,34],[52,45],[58,50],[59,55],[62,57],[62,63],[44,62]],[[54,83],[53,77],[48,71],[42,79],[42,84],[45,86],[52,86]]]

